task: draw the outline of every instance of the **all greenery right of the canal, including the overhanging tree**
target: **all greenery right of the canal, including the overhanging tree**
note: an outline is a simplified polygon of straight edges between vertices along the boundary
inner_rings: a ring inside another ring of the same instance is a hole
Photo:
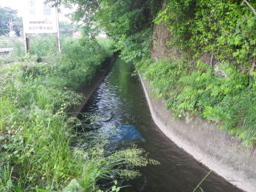
[[[122,59],[145,73],[177,116],[209,119],[256,144],[255,0],[51,2],[76,4],[74,19],[105,30]],[[180,59],[151,60],[154,23],[165,25],[166,46]],[[202,63],[206,55],[218,64]]]

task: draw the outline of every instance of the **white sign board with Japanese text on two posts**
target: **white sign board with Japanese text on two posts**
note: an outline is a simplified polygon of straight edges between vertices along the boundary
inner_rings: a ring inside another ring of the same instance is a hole
[[[44,1],[24,0],[24,34],[58,32],[56,7],[48,7]]]

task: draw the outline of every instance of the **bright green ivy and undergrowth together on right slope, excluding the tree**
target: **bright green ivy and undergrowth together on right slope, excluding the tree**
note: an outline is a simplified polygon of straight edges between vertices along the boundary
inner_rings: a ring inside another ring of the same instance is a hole
[[[207,118],[255,145],[256,2],[249,3],[166,1],[154,21],[165,22],[169,46],[182,56],[142,68],[177,116]],[[201,62],[207,54],[219,63]]]

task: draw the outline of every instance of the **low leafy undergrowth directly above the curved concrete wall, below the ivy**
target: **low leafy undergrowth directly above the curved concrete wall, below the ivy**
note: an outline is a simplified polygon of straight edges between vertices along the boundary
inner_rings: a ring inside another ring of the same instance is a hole
[[[140,70],[176,117],[206,118],[221,129],[230,130],[247,145],[254,145],[255,82],[249,86],[249,75],[232,65],[222,65],[225,77],[203,62],[197,62],[196,67],[188,63],[165,58],[145,62]]]

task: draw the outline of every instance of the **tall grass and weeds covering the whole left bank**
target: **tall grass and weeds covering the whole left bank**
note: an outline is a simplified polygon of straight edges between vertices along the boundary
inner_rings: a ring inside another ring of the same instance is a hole
[[[0,191],[96,191],[100,179],[133,178],[134,167],[154,163],[134,147],[106,151],[106,136],[77,133],[67,114],[105,59],[96,39],[66,39],[61,54],[36,41],[29,56],[0,66]]]

